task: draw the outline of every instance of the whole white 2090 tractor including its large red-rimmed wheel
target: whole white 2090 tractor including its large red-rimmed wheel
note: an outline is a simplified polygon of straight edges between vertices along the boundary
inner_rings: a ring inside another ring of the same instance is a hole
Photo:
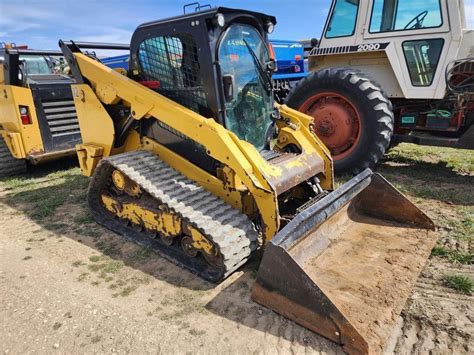
[[[472,14],[470,14],[472,16]],[[474,31],[463,0],[333,0],[286,103],[314,117],[339,173],[390,144],[474,148]]]

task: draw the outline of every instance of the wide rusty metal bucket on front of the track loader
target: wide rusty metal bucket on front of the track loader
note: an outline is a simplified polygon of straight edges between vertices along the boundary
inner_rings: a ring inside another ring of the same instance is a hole
[[[348,353],[381,353],[434,246],[434,229],[367,169],[267,244],[252,299]]]

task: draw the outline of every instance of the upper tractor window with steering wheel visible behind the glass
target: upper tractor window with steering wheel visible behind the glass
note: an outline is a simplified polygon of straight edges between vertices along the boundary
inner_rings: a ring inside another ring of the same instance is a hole
[[[374,0],[370,33],[440,27],[440,0]]]

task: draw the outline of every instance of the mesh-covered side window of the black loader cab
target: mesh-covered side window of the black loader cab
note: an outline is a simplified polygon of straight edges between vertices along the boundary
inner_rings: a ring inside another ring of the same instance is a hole
[[[198,60],[198,48],[188,34],[144,40],[138,50],[142,78],[156,82],[156,91],[210,117]]]

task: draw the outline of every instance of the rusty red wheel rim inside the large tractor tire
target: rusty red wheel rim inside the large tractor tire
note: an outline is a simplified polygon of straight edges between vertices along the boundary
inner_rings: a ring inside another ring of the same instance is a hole
[[[313,117],[313,131],[331,151],[334,160],[350,155],[361,136],[357,108],[345,96],[322,92],[308,98],[299,111]]]

